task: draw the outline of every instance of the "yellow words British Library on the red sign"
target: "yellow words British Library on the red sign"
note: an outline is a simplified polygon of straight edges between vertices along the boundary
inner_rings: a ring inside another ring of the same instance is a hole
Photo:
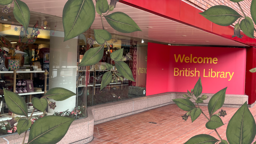
[[[174,76],[200,76],[200,71],[196,70],[190,70],[190,68],[183,68],[183,70],[179,70],[178,68],[174,68]],[[232,79],[234,75],[234,72],[231,74],[230,72],[224,72],[224,71],[213,71],[213,69],[209,69],[208,75],[206,70],[204,69],[203,71],[203,77],[208,77],[208,78],[228,78],[229,81]]]

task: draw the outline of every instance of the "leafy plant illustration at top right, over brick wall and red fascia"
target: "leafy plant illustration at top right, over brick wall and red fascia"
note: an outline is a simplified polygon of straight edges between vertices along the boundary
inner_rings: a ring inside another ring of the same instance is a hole
[[[232,37],[242,38],[243,35],[240,33],[240,30],[242,30],[246,36],[254,38],[254,32],[256,32],[256,29],[254,28],[254,24],[256,23],[256,0],[251,1],[250,12],[252,19],[245,15],[242,7],[239,4],[239,2],[244,0],[230,1],[236,2],[236,4],[239,6],[239,9],[242,11],[242,15],[240,15],[231,7],[225,5],[212,6],[199,14],[220,26],[229,26],[238,20],[238,22],[235,24],[234,35]],[[255,73],[256,68],[251,69],[250,72]]]

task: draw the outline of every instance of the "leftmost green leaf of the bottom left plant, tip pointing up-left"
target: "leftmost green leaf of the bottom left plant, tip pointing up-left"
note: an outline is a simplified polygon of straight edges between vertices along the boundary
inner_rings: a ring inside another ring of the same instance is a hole
[[[20,95],[4,89],[4,97],[6,105],[12,113],[28,117],[27,104]]]

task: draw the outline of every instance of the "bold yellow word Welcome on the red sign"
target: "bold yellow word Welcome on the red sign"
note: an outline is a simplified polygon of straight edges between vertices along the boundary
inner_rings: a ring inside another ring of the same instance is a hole
[[[192,54],[190,54],[190,57],[185,57],[185,54],[183,54],[183,57],[181,58],[181,55],[179,54],[178,57],[176,57],[176,54],[174,54],[174,58],[175,58],[175,62],[177,63],[179,60],[180,62],[182,63],[183,60],[185,63],[214,63],[214,64],[217,64],[218,63],[218,59],[217,58],[208,58],[208,57],[192,57]]]

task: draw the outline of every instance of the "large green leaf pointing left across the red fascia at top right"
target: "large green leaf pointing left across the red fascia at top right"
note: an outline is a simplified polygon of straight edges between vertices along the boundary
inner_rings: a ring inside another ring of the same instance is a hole
[[[242,17],[240,14],[238,14],[238,12],[224,5],[212,6],[208,10],[199,14],[220,26],[229,26],[233,24],[239,17]]]

